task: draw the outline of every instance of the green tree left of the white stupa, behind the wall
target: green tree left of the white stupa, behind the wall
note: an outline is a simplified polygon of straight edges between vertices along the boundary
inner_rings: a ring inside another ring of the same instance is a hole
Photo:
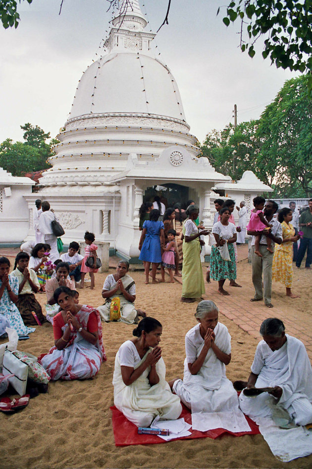
[[[25,142],[14,143],[10,138],[4,140],[0,145],[0,166],[13,176],[50,168],[48,158],[55,154],[52,146],[58,141],[52,139],[46,143],[50,132],[45,133],[38,125],[26,123],[21,128],[25,130]]]

